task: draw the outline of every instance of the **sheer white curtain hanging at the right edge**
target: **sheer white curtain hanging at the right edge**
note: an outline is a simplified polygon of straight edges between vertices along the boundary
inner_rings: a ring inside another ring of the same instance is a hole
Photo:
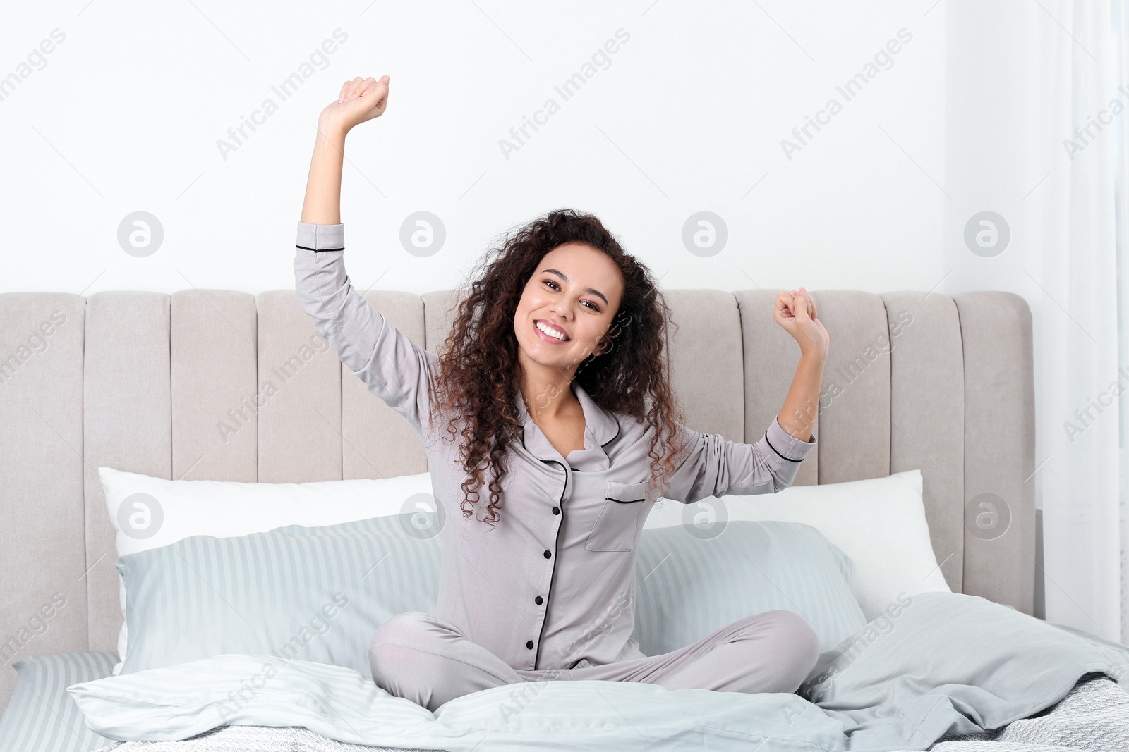
[[[1035,357],[1045,618],[1129,644],[1129,0],[1038,0],[1024,272]],[[1077,130],[1076,130],[1077,129]],[[1048,175],[1049,174],[1049,175]]]

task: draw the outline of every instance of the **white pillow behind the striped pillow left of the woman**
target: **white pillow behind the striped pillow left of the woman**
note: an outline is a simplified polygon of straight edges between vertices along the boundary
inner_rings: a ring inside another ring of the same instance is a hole
[[[230,538],[283,525],[310,528],[403,512],[436,512],[431,474],[315,483],[165,480],[98,468],[117,556],[175,543],[191,536]],[[131,498],[135,494],[143,494]],[[126,503],[128,502],[128,503]],[[117,664],[128,649],[125,583],[117,575],[122,629]]]

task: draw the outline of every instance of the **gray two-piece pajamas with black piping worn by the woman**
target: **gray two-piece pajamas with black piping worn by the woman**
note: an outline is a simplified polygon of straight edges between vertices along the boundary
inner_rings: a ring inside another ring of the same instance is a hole
[[[636,547],[656,501],[647,457],[650,426],[603,409],[574,381],[571,389],[584,410],[585,448],[561,457],[518,398],[522,441],[510,445],[501,519],[493,529],[482,521],[489,499],[484,486],[479,489],[475,514],[464,517],[460,484],[466,476],[460,467],[457,435],[453,443],[443,441],[448,416],[438,415],[434,426],[428,422],[427,374],[437,356],[392,326],[353,289],[343,260],[344,224],[298,222],[296,246],[295,283],[301,309],[368,390],[415,427],[427,449],[436,502],[445,513],[436,613],[401,614],[404,618],[393,619],[395,623],[382,626],[374,635],[369,657],[378,683],[386,683],[385,689],[399,687],[401,696],[411,695],[421,705],[457,697],[482,682],[497,685],[545,672],[664,684],[672,672],[685,673],[686,666],[701,663],[703,652],[715,653],[712,648],[721,645],[725,649],[717,652],[714,660],[719,663],[714,669],[721,671],[726,651],[744,649],[742,666],[752,681],[746,687],[778,685],[784,674],[785,683],[790,683],[797,673],[795,685],[799,684],[804,678],[799,664],[808,658],[812,665],[815,662],[814,631],[789,611],[735,622],[729,627],[744,625],[743,630],[719,630],[710,637],[724,632],[727,636],[720,643],[704,638],[676,652],[680,656],[668,658],[666,669],[657,672],[662,656],[647,658],[631,639]],[[689,439],[689,454],[664,498],[683,503],[781,490],[815,446],[814,436],[811,442],[800,441],[774,418],[753,444],[681,424],[679,430]],[[405,632],[404,622],[413,618],[418,621]],[[414,636],[411,645],[405,644],[405,634]],[[695,647],[697,652],[690,649]],[[391,648],[414,649],[415,658],[431,656],[437,662],[435,675],[426,676],[418,661],[403,664],[411,676],[388,675],[395,663],[391,655],[403,652]],[[781,666],[789,662],[781,663],[779,656],[789,651],[800,660],[786,670]],[[387,661],[379,660],[382,653]],[[733,657],[728,656],[730,670]],[[612,664],[620,665],[609,667]],[[703,670],[690,673],[699,684],[716,683]],[[430,699],[421,701],[423,695]]]

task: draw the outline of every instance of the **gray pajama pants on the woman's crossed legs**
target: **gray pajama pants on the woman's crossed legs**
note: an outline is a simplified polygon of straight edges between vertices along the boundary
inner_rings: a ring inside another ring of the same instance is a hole
[[[765,611],[662,655],[579,669],[513,669],[457,627],[408,611],[376,630],[368,648],[373,680],[386,692],[435,710],[447,700],[524,681],[638,681],[666,689],[795,692],[815,667],[820,642],[791,611]]]

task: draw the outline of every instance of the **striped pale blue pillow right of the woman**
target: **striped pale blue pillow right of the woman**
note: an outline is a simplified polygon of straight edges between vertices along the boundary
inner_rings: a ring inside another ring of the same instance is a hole
[[[800,522],[729,520],[712,538],[694,525],[645,529],[632,637],[645,655],[660,655],[743,617],[785,609],[807,619],[828,651],[866,626],[851,567]]]

